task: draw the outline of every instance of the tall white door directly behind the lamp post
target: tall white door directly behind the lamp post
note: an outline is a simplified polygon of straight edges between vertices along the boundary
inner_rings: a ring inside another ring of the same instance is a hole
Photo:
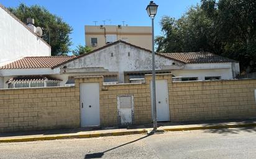
[[[152,90],[152,82],[151,82],[151,90]],[[156,80],[155,94],[156,94],[156,103],[157,103],[157,121],[170,121],[167,80]],[[153,111],[152,111],[152,114],[153,114]]]

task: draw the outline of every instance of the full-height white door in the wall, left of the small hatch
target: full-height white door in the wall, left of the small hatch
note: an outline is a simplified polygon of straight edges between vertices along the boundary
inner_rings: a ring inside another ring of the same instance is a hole
[[[99,84],[80,84],[81,127],[99,126]]]

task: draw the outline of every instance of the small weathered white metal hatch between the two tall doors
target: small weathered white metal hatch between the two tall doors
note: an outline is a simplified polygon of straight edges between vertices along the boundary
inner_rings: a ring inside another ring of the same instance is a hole
[[[121,125],[132,124],[133,96],[124,95],[117,97],[117,110]]]

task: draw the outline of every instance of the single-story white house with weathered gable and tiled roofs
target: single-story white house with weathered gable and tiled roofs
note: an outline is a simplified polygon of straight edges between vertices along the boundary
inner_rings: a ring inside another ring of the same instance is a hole
[[[212,53],[156,53],[157,73],[174,80],[234,79],[239,62]],[[80,75],[103,75],[106,84],[142,82],[152,71],[152,52],[116,41],[81,56],[25,57],[0,67],[0,88],[74,84]]]

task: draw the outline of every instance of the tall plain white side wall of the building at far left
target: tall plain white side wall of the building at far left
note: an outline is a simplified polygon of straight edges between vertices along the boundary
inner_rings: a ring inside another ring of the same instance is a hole
[[[50,45],[1,4],[0,17],[0,66],[26,56],[51,55]]]

